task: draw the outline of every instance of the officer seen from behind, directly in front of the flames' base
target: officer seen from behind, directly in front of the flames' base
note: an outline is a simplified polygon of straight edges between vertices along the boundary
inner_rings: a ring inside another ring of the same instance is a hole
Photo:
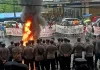
[[[34,64],[33,64],[33,59],[34,59],[34,48],[31,47],[30,42],[28,42],[28,43],[26,44],[26,47],[24,48],[23,56],[24,56],[24,63],[25,63],[28,67],[29,67],[29,64],[30,64],[31,70],[33,70],[33,69],[34,69]]]

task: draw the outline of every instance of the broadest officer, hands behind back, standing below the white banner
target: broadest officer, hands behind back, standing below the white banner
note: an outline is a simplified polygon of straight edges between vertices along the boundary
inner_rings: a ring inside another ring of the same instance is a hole
[[[71,53],[72,53],[72,45],[68,43],[68,39],[64,39],[64,43],[61,44],[59,49],[61,58],[61,69],[62,70],[70,70],[71,63]],[[67,66],[67,68],[66,68]]]

